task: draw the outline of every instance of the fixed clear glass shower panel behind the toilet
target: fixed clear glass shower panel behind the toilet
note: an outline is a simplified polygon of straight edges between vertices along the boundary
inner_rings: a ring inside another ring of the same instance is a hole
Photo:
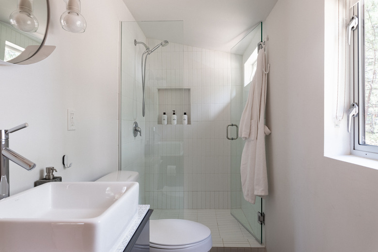
[[[192,114],[183,47],[174,43],[182,37],[183,21],[122,22],[121,170],[139,173],[139,202],[154,209],[184,208],[184,133]],[[173,110],[176,124],[171,122]],[[167,124],[161,120],[164,112]],[[135,121],[142,130],[136,137]]]

